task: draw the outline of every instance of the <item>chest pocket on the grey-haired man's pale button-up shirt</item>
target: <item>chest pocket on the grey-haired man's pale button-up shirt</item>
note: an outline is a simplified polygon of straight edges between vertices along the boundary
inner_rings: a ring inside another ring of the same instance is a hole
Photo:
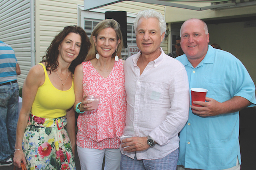
[[[164,84],[159,82],[146,82],[144,101],[147,104],[161,104],[163,102]]]

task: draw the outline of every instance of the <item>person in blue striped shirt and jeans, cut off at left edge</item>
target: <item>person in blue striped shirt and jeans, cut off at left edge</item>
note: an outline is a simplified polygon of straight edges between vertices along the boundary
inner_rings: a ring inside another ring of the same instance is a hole
[[[10,45],[0,41],[0,167],[13,164],[18,121],[20,66]]]

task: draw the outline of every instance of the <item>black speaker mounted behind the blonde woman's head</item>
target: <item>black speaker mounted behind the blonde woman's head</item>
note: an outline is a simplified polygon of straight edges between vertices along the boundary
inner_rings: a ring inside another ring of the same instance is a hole
[[[122,31],[124,47],[127,48],[127,19],[126,11],[108,11],[105,12],[105,19],[116,20],[120,24]]]

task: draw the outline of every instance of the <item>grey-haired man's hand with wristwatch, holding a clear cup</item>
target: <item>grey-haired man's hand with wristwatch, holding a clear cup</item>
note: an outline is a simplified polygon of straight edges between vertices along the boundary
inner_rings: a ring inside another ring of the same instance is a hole
[[[121,141],[122,148],[126,152],[135,152],[135,151],[142,151],[148,149],[150,146],[148,145],[148,138],[147,137],[130,137],[126,138]]]

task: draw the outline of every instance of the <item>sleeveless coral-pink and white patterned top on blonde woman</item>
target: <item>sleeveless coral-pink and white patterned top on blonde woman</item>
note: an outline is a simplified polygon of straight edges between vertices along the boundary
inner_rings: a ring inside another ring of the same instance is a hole
[[[83,90],[100,95],[98,109],[78,116],[76,144],[88,149],[118,149],[125,124],[126,92],[122,60],[115,62],[107,78],[90,61],[83,62]]]

